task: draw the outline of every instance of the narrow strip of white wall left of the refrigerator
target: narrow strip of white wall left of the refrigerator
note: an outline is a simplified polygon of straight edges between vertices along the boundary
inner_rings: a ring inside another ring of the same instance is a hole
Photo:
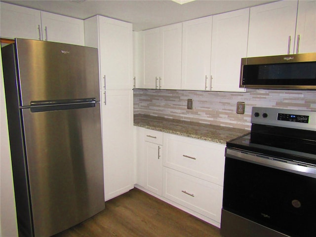
[[[12,166],[0,55],[0,237],[17,237]]]

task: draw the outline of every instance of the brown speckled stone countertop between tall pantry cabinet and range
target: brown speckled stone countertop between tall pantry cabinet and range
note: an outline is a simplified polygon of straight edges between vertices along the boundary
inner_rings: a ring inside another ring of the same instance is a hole
[[[250,131],[178,119],[150,115],[134,115],[134,125],[180,136],[226,144],[226,141],[249,133]]]

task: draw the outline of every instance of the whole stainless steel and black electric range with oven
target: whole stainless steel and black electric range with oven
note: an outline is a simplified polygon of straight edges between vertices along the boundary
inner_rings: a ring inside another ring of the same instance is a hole
[[[316,235],[316,111],[252,108],[227,143],[223,237]]]

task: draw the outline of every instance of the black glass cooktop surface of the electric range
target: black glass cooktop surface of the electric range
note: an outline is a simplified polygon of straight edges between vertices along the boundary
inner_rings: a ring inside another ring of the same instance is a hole
[[[315,131],[252,126],[249,134],[227,142],[227,147],[316,165]]]

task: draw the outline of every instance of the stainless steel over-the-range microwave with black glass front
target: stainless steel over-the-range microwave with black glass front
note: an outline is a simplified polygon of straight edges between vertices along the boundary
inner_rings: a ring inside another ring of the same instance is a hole
[[[242,88],[316,89],[316,52],[242,58]]]

